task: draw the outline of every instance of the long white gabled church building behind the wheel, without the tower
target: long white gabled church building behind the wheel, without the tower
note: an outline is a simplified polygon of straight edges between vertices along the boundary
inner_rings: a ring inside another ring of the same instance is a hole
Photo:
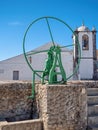
[[[51,43],[47,43],[33,50],[33,52],[47,50],[50,46]],[[32,57],[28,57],[34,70],[44,70],[46,58],[46,52],[34,54]],[[72,51],[63,49],[62,64],[68,77],[73,72]],[[36,77],[36,80],[38,79],[39,77]],[[28,67],[23,54],[0,61],[0,80],[32,80],[32,71]]]

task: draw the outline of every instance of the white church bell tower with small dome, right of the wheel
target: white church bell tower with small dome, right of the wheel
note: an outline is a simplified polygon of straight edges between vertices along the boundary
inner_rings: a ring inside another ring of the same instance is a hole
[[[74,33],[78,36],[81,48],[81,61],[79,71],[77,73],[78,79],[89,80],[96,78],[96,29],[92,31],[84,24],[77,28]],[[75,38],[73,37],[75,42]],[[78,48],[74,49],[74,56],[78,57]]]

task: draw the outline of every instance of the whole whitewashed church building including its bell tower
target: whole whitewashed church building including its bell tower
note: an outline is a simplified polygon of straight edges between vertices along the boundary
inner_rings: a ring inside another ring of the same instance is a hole
[[[90,31],[89,28],[82,25],[75,30],[75,33],[78,36],[81,48],[81,62],[77,79],[94,79],[96,77],[96,30],[93,29]],[[73,38],[73,40],[75,39]],[[46,50],[50,46],[51,44],[48,43],[33,51]],[[75,54],[74,57],[77,58],[77,48],[73,51]],[[62,64],[67,77],[74,70],[73,51],[64,49],[62,52]],[[47,58],[45,52],[32,55],[29,58],[34,70],[44,70],[45,59]],[[28,67],[23,54],[0,61],[0,80],[32,80],[32,71]]]

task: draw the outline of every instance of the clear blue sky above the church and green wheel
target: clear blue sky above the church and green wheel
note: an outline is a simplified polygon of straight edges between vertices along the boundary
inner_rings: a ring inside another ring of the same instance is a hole
[[[23,53],[22,42],[28,25],[42,16],[62,19],[73,30],[81,26],[82,21],[89,29],[95,26],[98,30],[98,0],[0,0],[0,61]],[[34,39],[33,34],[32,36],[28,34],[27,41],[33,42],[31,49],[45,44],[44,41],[49,42],[46,36],[42,35],[45,33],[44,29],[37,25],[33,26]],[[55,28],[53,31],[55,34]],[[61,38],[60,34],[61,32],[57,32],[57,39]],[[69,34],[71,37],[72,34]]]

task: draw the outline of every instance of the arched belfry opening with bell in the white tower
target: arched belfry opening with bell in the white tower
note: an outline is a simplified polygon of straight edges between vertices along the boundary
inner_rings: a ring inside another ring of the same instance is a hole
[[[82,49],[89,50],[89,37],[88,37],[88,35],[82,36]]]

